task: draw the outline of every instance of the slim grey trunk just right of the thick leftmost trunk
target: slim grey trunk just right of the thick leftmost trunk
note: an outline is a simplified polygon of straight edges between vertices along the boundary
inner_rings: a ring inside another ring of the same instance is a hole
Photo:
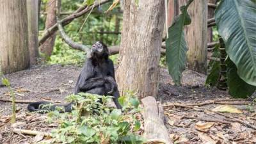
[[[28,43],[30,65],[35,65],[39,58],[38,52],[38,0],[27,0]]]

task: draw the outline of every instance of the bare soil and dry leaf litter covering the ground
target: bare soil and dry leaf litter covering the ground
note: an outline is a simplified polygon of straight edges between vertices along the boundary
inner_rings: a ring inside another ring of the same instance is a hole
[[[44,65],[6,77],[17,100],[65,102],[65,97],[74,90],[80,70],[74,66]],[[175,143],[256,143],[256,109],[252,100],[231,99],[227,92],[206,88],[204,82],[203,74],[186,70],[182,86],[175,86],[168,71],[161,69],[158,99],[164,105],[170,138]],[[0,99],[10,99],[7,88],[0,88]],[[45,124],[45,115],[26,113],[26,106],[17,104],[18,122],[22,123],[19,127],[45,132],[56,127]],[[218,106],[228,106],[239,113],[212,111]],[[38,139],[10,131],[10,113],[10,102],[0,101],[0,143],[31,143]]]

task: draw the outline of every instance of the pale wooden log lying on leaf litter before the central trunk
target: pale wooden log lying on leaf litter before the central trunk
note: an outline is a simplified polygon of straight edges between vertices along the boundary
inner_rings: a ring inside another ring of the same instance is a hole
[[[163,141],[166,144],[172,143],[164,125],[162,106],[157,106],[156,99],[151,96],[141,99],[141,102],[143,104],[145,138]]]

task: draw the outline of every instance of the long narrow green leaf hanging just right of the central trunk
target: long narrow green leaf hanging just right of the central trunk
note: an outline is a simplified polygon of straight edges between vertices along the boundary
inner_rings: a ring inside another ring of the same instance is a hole
[[[180,8],[182,13],[168,29],[169,37],[166,39],[166,63],[169,74],[172,76],[173,82],[177,85],[180,85],[182,72],[186,68],[186,52],[188,51],[188,46],[184,36],[184,26],[191,23],[187,12],[191,2],[189,1],[186,6]]]

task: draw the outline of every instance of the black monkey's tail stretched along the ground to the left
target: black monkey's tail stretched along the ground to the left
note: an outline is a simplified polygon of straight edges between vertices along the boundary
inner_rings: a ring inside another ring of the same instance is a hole
[[[48,113],[49,111],[55,111],[57,107],[62,107],[63,110],[60,110],[60,113],[71,112],[72,111],[72,102],[69,104],[52,104],[51,102],[40,101],[32,102],[28,105],[28,111],[38,112],[38,113]]]

